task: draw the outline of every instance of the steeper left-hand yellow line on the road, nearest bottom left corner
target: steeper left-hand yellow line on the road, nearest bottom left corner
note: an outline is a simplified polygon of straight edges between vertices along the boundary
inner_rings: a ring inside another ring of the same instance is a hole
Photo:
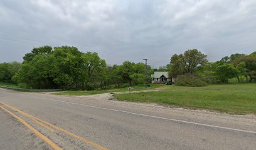
[[[24,124],[24,126],[26,126],[28,129],[31,129],[31,131],[33,131],[33,133],[35,133],[39,138],[43,139],[43,141],[45,141],[46,143],[50,144],[50,146],[53,149],[56,150],[61,150],[61,148],[59,146],[57,146],[55,143],[53,143],[50,139],[46,138],[46,136],[44,136],[43,134],[41,134],[39,131],[37,131],[35,128],[33,128],[32,126],[30,126],[28,123],[26,123],[26,121],[24,121],[23,119],[19,118],[18,116],[16,116],[16,114],[11,113],[11,111],[8,111],[7,109],[3,108],[2,106],[0,106],[1,109],[3,109],[4,111],[6,111],[7,113],[11,114],[11,116],[13,116],[14,118],[18,119],[18,121],[20,121],[21,123]]]

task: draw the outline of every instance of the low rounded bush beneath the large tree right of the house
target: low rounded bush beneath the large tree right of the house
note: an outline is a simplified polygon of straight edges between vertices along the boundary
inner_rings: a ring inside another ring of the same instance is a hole
[[[192,76],[192,75],[181,75],[178,76],[176,85],[178,86],[193,86],[193,87],[200,87],[200,86],[208,86],[206,81],[202,79]]]

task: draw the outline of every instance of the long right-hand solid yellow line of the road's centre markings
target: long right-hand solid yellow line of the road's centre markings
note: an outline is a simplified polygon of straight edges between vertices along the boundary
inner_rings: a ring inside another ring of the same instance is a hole
[[[70,133],[69,131],[66,131],[65,129],[59,128],[58,126],[55,126],[55,125],[53,125],[51,123],[48,123],[46,121],[43,121],[41,119],[38,119],[35,116],[32,116],[31,114],[24,113],[23,111],[21,111],[19,109],[13,108],[13,107],[8,106],[7,104],[1,103],[1,102],[0,102],[0,104],[3,104],[4,106],[6,106],[6,107],[8,107],[10,109],[13,109],[14,111],[17,111],[18,113],[21,113],[24,116],[27,116],[28,118],[33,118],[33,119],[36,119],[36,120],[40,121],[41,123],[48,124],[49,126],[55,128],[55,129],[58,129],[58,130],[62,131],[63,133],[69,134],[70,136],[73,136],[76,139],[80,139],[84,143],[90,144],[90,145],[95,146],[96,148],[99,148],[99,149],[102,149],[102,150],[108,150],[107,148],[104,148],[103,146],[100,146],[99,144],[93,143],[92,141],[89,141],[88,139],[82,138],[82,137],[77,136],[77,135],[75,135],[73,133]]]

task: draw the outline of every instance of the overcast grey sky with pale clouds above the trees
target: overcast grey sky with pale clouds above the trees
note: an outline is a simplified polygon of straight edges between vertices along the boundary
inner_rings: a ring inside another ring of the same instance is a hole
[[[217,61],[256,51],[255,0],[1,0],[0,62],[38,46],[76,46],[107,64],[165,66],[198,49]]]

